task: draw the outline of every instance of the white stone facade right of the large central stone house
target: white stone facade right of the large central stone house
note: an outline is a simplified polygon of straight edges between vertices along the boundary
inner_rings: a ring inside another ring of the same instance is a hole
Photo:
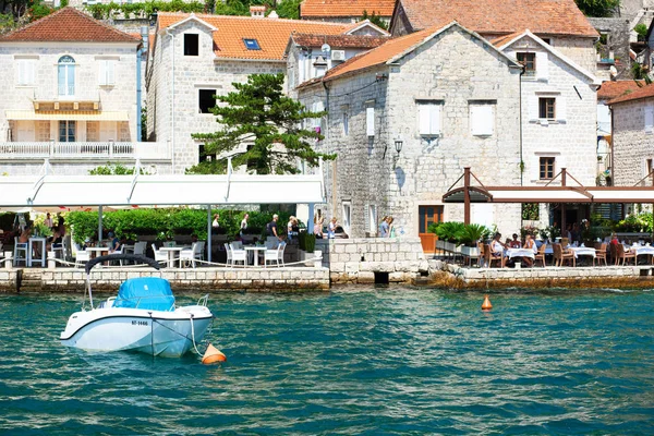
[[[558,47],[546,47],[529,34],[502,50],[512,58],[535,53],[535,72],[522,76],[522,183],[548,183],[541,173],[541,159],[553,157],[553,175],[567,168],[580,183],[594,185],[598,82],[588,70],[568,62]],[[541,113],[545,98],[555,100],[554,119]]]

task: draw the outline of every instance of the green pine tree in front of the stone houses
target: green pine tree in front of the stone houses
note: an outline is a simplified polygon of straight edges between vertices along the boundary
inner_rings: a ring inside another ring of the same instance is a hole
[[[218,105],[211,111],[221,129],[192,135],[204,142],[205,155],[220,157],[235,150],[232,165],[246,165],[258,174],[295,174],[300,172],[298,159],[311,167],[317,167],[320,158],[335,159],[336,155],[314,150],[313,145],[323,135],[302,126],[305,119],[319,118],[325,112],[306,111],[301,102],[287,97],[281,73],[253,74],[247,83],[233,83],[235,92],[216,96]],[[187,172],[223,172],[225,161],[203,161]]]

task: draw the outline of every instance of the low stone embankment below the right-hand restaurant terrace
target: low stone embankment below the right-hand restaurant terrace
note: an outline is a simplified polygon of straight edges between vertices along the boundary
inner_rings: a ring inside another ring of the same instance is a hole
[[[513,269],[464,268],[429,261],[429,268],[431,284],[451,289],[654,287],[654,265]]]

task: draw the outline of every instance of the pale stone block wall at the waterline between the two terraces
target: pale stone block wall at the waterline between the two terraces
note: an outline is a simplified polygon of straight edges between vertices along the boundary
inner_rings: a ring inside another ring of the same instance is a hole
[[[374,283],[375,272],[412,283],[428,270],[419,238],[332,239],[324,259],[332,283]]]

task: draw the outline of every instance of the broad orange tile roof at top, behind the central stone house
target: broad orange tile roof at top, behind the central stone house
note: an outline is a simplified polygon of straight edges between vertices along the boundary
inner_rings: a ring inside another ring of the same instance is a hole
[[[574,0],[398,0],[414,31],[456,20],[483,35],[529,28],[538,35],[598,37]]]

